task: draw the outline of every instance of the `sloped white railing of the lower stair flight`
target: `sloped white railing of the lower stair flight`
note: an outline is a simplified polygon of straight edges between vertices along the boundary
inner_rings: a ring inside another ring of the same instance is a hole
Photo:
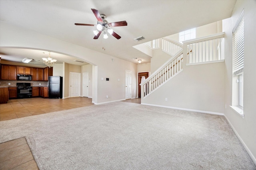
[[[151,74],[141,86],[141,97],[145,98],[182,71],[183,49],[180,49],[174,57],[170,58],[153,74]]]

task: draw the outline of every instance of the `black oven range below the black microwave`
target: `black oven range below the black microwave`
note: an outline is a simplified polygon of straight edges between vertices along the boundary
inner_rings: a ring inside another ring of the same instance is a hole
[[[16,83],[17,86],[17,98],[31,98],[32,87],[30,83]]]

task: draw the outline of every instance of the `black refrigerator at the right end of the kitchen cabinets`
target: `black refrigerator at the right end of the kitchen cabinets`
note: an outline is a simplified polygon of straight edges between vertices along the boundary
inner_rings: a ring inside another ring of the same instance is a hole
[[[49,98],[62,99],[62,77],[49,76]]]

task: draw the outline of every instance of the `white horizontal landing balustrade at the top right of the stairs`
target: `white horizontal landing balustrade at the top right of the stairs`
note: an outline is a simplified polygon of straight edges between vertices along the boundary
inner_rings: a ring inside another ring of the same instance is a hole
[[[187,64],[224,60],[224,33],[183,42],[187,45]]]

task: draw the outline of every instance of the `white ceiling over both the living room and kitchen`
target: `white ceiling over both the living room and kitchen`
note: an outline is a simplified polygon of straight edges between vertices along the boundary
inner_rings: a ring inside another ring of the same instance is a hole
[[[134,57],[149,63],[150,56],[133,48],[134,45],[229,18],[235,3],[236,0],[0,0],[0,21],[133,63],[138,62],[132,60]],[[102,50],[102,34],[93,39],[96,27],[74,25],[96,24],[91,8],[105,14],[108,22],[128,23],[113,27],[121,39],[109,35],[105,40],[106,50]],[[133,40],[139,36],[146,39]],[[42,64],[42,57],[47,58],[48,52],[1,47],[0,55],[2,60],[20,62],[27,57],[40,60],[34,61],[35,64]],[[59,63],[84,64],[62,54],[51,53],[51,57]]]

